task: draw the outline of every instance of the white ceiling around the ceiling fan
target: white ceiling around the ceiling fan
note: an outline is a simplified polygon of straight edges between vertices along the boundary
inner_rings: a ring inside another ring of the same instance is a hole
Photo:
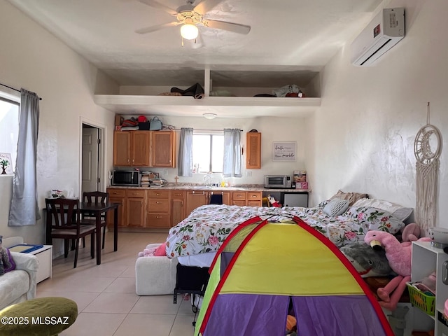
[[[182,46],[179,26],[135,32],[175,21],[169,13],[138,0],[8,1],[120,85],[186,87],[200,83],[197,76],[205,66],[221,71],[223,83],[226,71],[262,71],[272,74],[271,86],[303,87],[367,25],[381,4],[381,0],[223,0],[204,18],[249,25],[251,31],[242,35],[200,27],[199,44],[186,41]],[[176,10],[186,0],[160,3]],[[291,73],[294,83],[284,76],[276,78],[276,71]],[[232,78],[232,85],[238,86]],[[238,78],[244,85],[252,81],[262,87],[257,76],[241,72]]]

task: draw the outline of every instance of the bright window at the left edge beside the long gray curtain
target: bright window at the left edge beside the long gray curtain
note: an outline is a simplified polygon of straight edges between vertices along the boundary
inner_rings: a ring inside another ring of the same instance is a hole
[[[0,153],[10,154],[10,167],[14,172],[19,136],[20,104],[18,101],[8,99],[10,98],[8,96],[8,94],[0,92]]]

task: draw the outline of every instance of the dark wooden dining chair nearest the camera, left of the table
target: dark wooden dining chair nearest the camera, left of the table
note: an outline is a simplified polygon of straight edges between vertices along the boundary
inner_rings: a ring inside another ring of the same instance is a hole
[[[68,198],[45,198],[47,209],[47,232],[52,239],[64,239],[64,258],[69,255],[69,244],[73,240],[75,250],[73,268],[78,262],[79,239],[90,235],[90,255],[95,253],[95,230],[92,225],[80,225],[79,201]]]

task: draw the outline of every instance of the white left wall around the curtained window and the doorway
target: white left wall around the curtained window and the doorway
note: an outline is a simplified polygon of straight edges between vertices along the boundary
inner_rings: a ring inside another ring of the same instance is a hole
[[[0,83],[24,87],[42,97],[38,133],[38,204],[45,207],[49,190],[73,189],[78,195],[80,123],[88,120],[106,128],[106,167],[112,164],[113,113],[93,102],[97,69],[55,36],[23,15],[8,1],[0,1]],[[102,86],[118,85],[102,78]],[[109,145],[109,146],[108,146]],[[9,228],[12,178],[0,179],[0,235],[20,235],[42,243],[43,220],[36,225]],[[42,213],[42,211],[41,211]]]

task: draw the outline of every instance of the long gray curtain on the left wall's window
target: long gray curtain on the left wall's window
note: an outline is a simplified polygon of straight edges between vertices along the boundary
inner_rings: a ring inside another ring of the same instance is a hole
[[[19,140],[8,226],[35,225],[38,213],[36,188],[39,97],[20,90]]]

